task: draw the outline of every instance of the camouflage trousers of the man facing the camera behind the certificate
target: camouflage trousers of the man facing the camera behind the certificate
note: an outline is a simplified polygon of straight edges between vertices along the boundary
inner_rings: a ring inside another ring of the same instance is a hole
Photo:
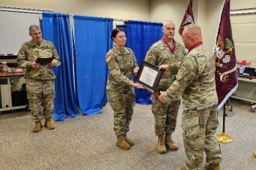
[[[173,133],[177,124],[180,100],[173,101],[171,104],[162,104],[152,95],[151,101],[151,109],[155,118],[156,136]]]

